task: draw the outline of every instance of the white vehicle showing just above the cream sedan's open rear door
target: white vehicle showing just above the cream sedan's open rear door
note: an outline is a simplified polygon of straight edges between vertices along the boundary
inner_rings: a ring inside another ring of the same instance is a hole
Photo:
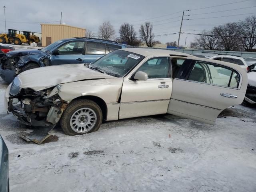
[[[249,69],[248,65],[246,64],[245,60],[242,57],[233,55],[216,55],[211,57],[210,59],[238,64],[241,68],[244,69],[246,73],[248,72]]]

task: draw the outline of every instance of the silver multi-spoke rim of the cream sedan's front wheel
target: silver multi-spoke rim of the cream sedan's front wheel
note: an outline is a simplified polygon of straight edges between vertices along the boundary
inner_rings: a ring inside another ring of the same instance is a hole
[[[80,108],[76,110],[70,118],[70,127],[76,133],[86,133],[97,121],[97,115],[91,108]]]

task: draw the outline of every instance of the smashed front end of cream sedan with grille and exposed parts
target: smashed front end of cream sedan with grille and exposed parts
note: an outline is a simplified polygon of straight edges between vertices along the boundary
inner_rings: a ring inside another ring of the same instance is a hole
[[[26,125],[55,125],[68,105],[58,95],[60,85],[41,91],[21,88],[20,85],[16,77],[6,91],[8,112]]]

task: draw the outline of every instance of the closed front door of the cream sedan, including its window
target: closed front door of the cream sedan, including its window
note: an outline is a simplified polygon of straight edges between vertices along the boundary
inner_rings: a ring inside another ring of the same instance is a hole
[[[148,74],[148,80],[133,80],[138,71]],[[172,93],[170,59],[150,58],[136,72],[124,79],[119,118],[166,113]]]

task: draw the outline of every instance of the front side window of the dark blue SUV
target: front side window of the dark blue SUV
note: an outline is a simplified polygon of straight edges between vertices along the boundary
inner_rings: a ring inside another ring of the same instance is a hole
[[[60,55],[82,55],[84,41],[68,42],[58,48]]]

